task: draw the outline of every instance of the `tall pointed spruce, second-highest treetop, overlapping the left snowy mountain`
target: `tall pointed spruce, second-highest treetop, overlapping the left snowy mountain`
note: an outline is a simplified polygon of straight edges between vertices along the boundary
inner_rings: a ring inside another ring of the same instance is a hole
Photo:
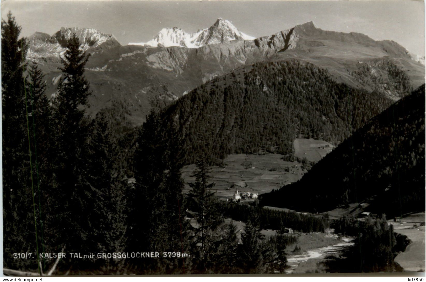
[[[67,41],[62,58],[63,78],[53,100],[56,140],[55,176],[57,201],[52,200],[56,215],[50,224],[60,236],[52,240],[54,246],[64,246],[69,252],[91,251],[88,233],[91,232],[87,213],[92,208],[92,187],[87,181],[86,162],[88,125],[85,117],[87,97],[91,94],[84,77],[84,66],[89,56],[80,49],[76,34]],[[52,236],[53,237],[53,236]]]

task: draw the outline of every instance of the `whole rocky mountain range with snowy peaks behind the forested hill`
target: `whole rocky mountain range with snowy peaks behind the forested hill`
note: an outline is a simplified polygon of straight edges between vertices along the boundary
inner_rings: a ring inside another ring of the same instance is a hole
[[[46,74],[49,95],[56,91],[59,56],[73,32],[91,54],[86,65],[93,91],[90,113],[124,101],[134,125],[144,122],[154,100],[172,102],[215,77],[262,61],[312,63],[326,69],[338,83],[380,90],[391,100],[406,94],[398,89],[391,72],[404,72],[414,88],[424,83],[424,66],[394,41],[324,31],[313,22],[253,39],[219,18],[210,28],[193,34],[165,28],[143,46],[122,46],[112,34],[90,28],[61,28],[52,36],[36,32],[28,38],[27,59],[38,62]]]

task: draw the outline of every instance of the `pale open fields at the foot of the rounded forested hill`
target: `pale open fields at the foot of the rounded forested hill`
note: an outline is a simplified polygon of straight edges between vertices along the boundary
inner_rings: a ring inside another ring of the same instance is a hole
[[[334,148],[334,145],[313,139],[296,139],[294,141],[295,157],[317,162]],[[284,161],[280,154],[232,154],[223,160],[221,166],[210,166],[210,182],[220,199],[231,199],[236,189],[240,192],[268,193],[301,179],[306,173],[302,162]],[[196,165],[186,165],[182,169],[184,182],[194,181],[191,177]],[[184,192],[189,191],[186,184]]]

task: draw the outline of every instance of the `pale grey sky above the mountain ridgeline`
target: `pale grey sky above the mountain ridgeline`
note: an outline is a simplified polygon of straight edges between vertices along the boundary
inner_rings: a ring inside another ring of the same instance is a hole
[[[423,1],[56,1],[2,0],[22,35],[54,34],[61,26],[90,27],[114,34],[121,44],[147,42],[161,28],[187,32],[211,26],[218,17],[245,34],[260,37],[313,20],[323,30],[360,32],[374,40],[394,40],[425,54]]]

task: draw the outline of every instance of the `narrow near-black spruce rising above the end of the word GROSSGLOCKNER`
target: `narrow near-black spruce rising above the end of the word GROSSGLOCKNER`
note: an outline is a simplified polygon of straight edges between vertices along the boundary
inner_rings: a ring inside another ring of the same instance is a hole
[[[135,185],[132,190],[132,248],[152,248],[163,219],[167,140],[159,130],[161,120],[151,113],[141,128],[135,152]],[[144,215],[144,216],[141,216]],[[138,234],[138,235],[136,235]]]

